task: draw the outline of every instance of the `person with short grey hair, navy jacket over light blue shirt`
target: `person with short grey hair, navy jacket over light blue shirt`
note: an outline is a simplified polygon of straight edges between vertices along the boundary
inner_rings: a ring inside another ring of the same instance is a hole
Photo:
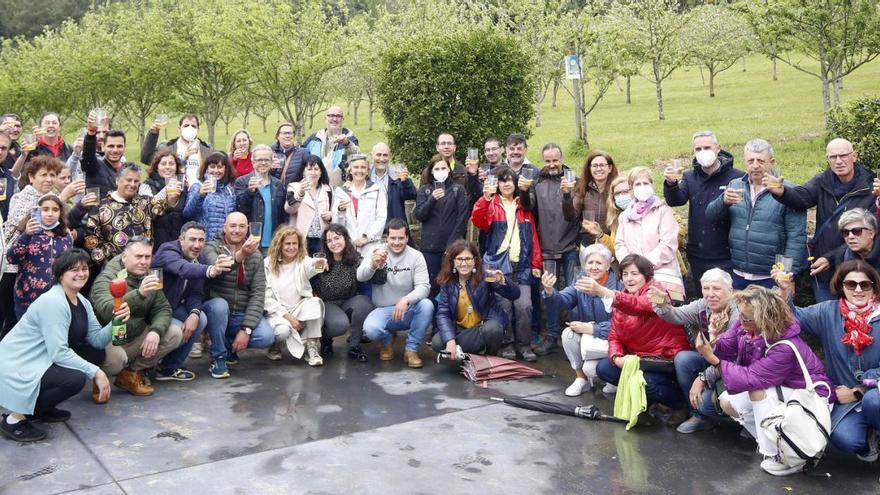
[[[251,225],[259,223],[257,232],[260,248],[265,252],[272,242],[272,232],[281,223],[284,214],[281,203],[281,181],[269,172],[272,169],[272,148],[258,144],[253,152],[253,172],[235,180],[238,211],[245,214]]]

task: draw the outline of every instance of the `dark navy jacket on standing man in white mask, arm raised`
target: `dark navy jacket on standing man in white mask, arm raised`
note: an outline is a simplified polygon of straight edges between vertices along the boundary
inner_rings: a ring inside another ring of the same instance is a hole
[[[706,207],[724,192],[733,179],[739,179],[745,173],[733,168],[733,156],[721,150],[718,153],[721,167],[712,175],[706,175],[696,160],[693,170],[684,173],[684,178],[675,184],[663,181],[663,197],[669,206],[682,206],[690,202],[688,207],[688,258],[705,261],[727,261],[730,259],[730,245],[727,243],[727,230],[730,223],[727,218],[720,222],[706,218]]]

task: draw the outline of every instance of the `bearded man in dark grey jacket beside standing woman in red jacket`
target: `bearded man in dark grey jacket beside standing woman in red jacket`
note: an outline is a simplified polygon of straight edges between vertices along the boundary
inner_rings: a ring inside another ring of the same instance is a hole
[[[562,181],[564,170],[570,170],[562,163],[562,149],[556,143],[547,143],[541,150],[541,157],[544,159],[544,168],[531,185],[525,178],[519,178],[520,201],[524,209],[531,210],[535,215],[544,261],[554,262],[556,270],[553,275],[561,282],[561,287],[568,287],[572,284],[571,278],[578,264],[577,239],[581,221],[579,218],[568,221],[560,214],[562,196],[571,192],[568,184]],[[534,288],[537,289],[537,286]],[[535,310],[540,308],[540,301],[540,298],[532,299]],[[558,338],[559,311],[551,299],[547,301],[547,332],[543,342],[535,348],[535,353],[543,356],[553,352],[557,348]],[[533,360],[530,359],[533,356],[528,354],[523,353],[524,359]]]

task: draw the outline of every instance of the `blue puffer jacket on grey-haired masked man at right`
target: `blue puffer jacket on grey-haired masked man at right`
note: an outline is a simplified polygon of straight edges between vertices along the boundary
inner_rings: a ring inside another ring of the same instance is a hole
[[[743,189],[743,200],[725,205],[719,196],[706,209],[710,222],[730,219],[730,254],[733,267],[746,273],[769,275],[777,254],[794,259],[798,273],[806,261],[807,214],[788,208],[763,190],[752,207],[752,193],[744,179],[734,179],[727,187]]]

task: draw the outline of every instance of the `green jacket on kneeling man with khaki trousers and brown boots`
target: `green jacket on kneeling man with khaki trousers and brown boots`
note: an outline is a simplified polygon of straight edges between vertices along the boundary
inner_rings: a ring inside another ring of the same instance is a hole
[[[113,257],[92,285],[89,299],[95,309],[95,316],[98,317],[98,321],[102,325],[106,325],[113,319],[113,296],[110,295],[110,281],[115,279],[116,274],[121,272],[123,268],[122,255]],[[155,290],[150,292],[147,297],[141,296],[138,287],[141,286],[142,278],[142,276],[129,275],[126,279],[128,292],[122,299],[128,303],[128,307],[131,309],[131,318],[126,323],[126,340],[128,342],[150,330],[155,331],[159,336],[164,336],[168,326],[171,325],[171,305],[168,304],[168,299],[165,299],[165,292]]]

